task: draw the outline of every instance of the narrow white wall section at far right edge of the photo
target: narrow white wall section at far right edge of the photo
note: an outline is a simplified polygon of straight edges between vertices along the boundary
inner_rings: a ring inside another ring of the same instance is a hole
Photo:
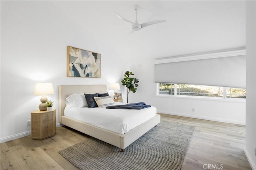
[[[256,2],[246,1],[246,156],[256,170]]]

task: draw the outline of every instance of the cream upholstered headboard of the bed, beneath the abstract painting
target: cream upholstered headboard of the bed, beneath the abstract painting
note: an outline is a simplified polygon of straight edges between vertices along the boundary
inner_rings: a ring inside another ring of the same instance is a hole
[[[59,122],[61,123],[61,116],[64,115],[66,107],[66,98],[70,94],[75,93],[106,93],[107,86],[105,84],[94,85],[60,85],[59,86]]]

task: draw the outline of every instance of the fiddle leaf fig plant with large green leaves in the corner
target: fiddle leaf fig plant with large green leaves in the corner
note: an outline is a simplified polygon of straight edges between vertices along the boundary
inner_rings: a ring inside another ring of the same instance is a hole
[[[127,87],[127,103],[129,92],[132,91],[133,93],[135,93],[138,87],[139,79],[130,77],[133,75],[134,74],[132,72],[126,71],[124,73],[124,78],[121,81],[122,85]]]

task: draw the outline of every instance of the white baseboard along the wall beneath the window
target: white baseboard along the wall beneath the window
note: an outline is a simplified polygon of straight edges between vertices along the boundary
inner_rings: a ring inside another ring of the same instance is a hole
[[[196,119],[204,119],[204,120],[210,120],[210,121],[219,121],[219,122],[224,122],[224,123],[233,123],[233,124],[238,124],[238,125],[245,125],[244,121],[220,119],[220,118],[213,118],[213,117],[199,116],[199,115],[190,115],[190,114],[184,114],[184,113],[173,113],[173,112],[170,112],[170,111],[162,111],[162,110],[158,110],[157,112],[168,114],[168,115],[177,115],[177,116],[191,117],[191,118],[196,118]]]

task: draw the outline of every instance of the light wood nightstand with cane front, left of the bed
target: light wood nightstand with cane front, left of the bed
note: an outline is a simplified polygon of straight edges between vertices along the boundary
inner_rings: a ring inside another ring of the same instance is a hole
[[[52,111],[34,110],[31,112],[31,137],[43,140],[56,133],[56,109]]]

